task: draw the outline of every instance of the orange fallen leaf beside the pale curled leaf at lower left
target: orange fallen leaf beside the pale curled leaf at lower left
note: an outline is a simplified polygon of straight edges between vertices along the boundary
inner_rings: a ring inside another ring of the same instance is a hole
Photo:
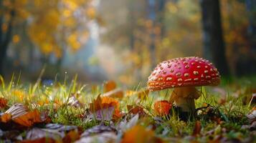
[[[34,109],[31,112],[27,112],[22,116],[16,117],[13,119],[13,121],[24,127],[32,127],[33,124],[42,122],[40,119],[39,111],[37,109]]]

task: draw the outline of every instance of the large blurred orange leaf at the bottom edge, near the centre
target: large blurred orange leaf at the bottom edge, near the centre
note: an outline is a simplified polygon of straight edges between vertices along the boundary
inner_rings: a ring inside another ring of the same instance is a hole
[[[148,130],[145,127],[136,125],[129,129],[123,135],[121,143],[137,143],[137,142],[151,142],[158,143],[162,142],[161,139],[155,137],[152,130]]]

